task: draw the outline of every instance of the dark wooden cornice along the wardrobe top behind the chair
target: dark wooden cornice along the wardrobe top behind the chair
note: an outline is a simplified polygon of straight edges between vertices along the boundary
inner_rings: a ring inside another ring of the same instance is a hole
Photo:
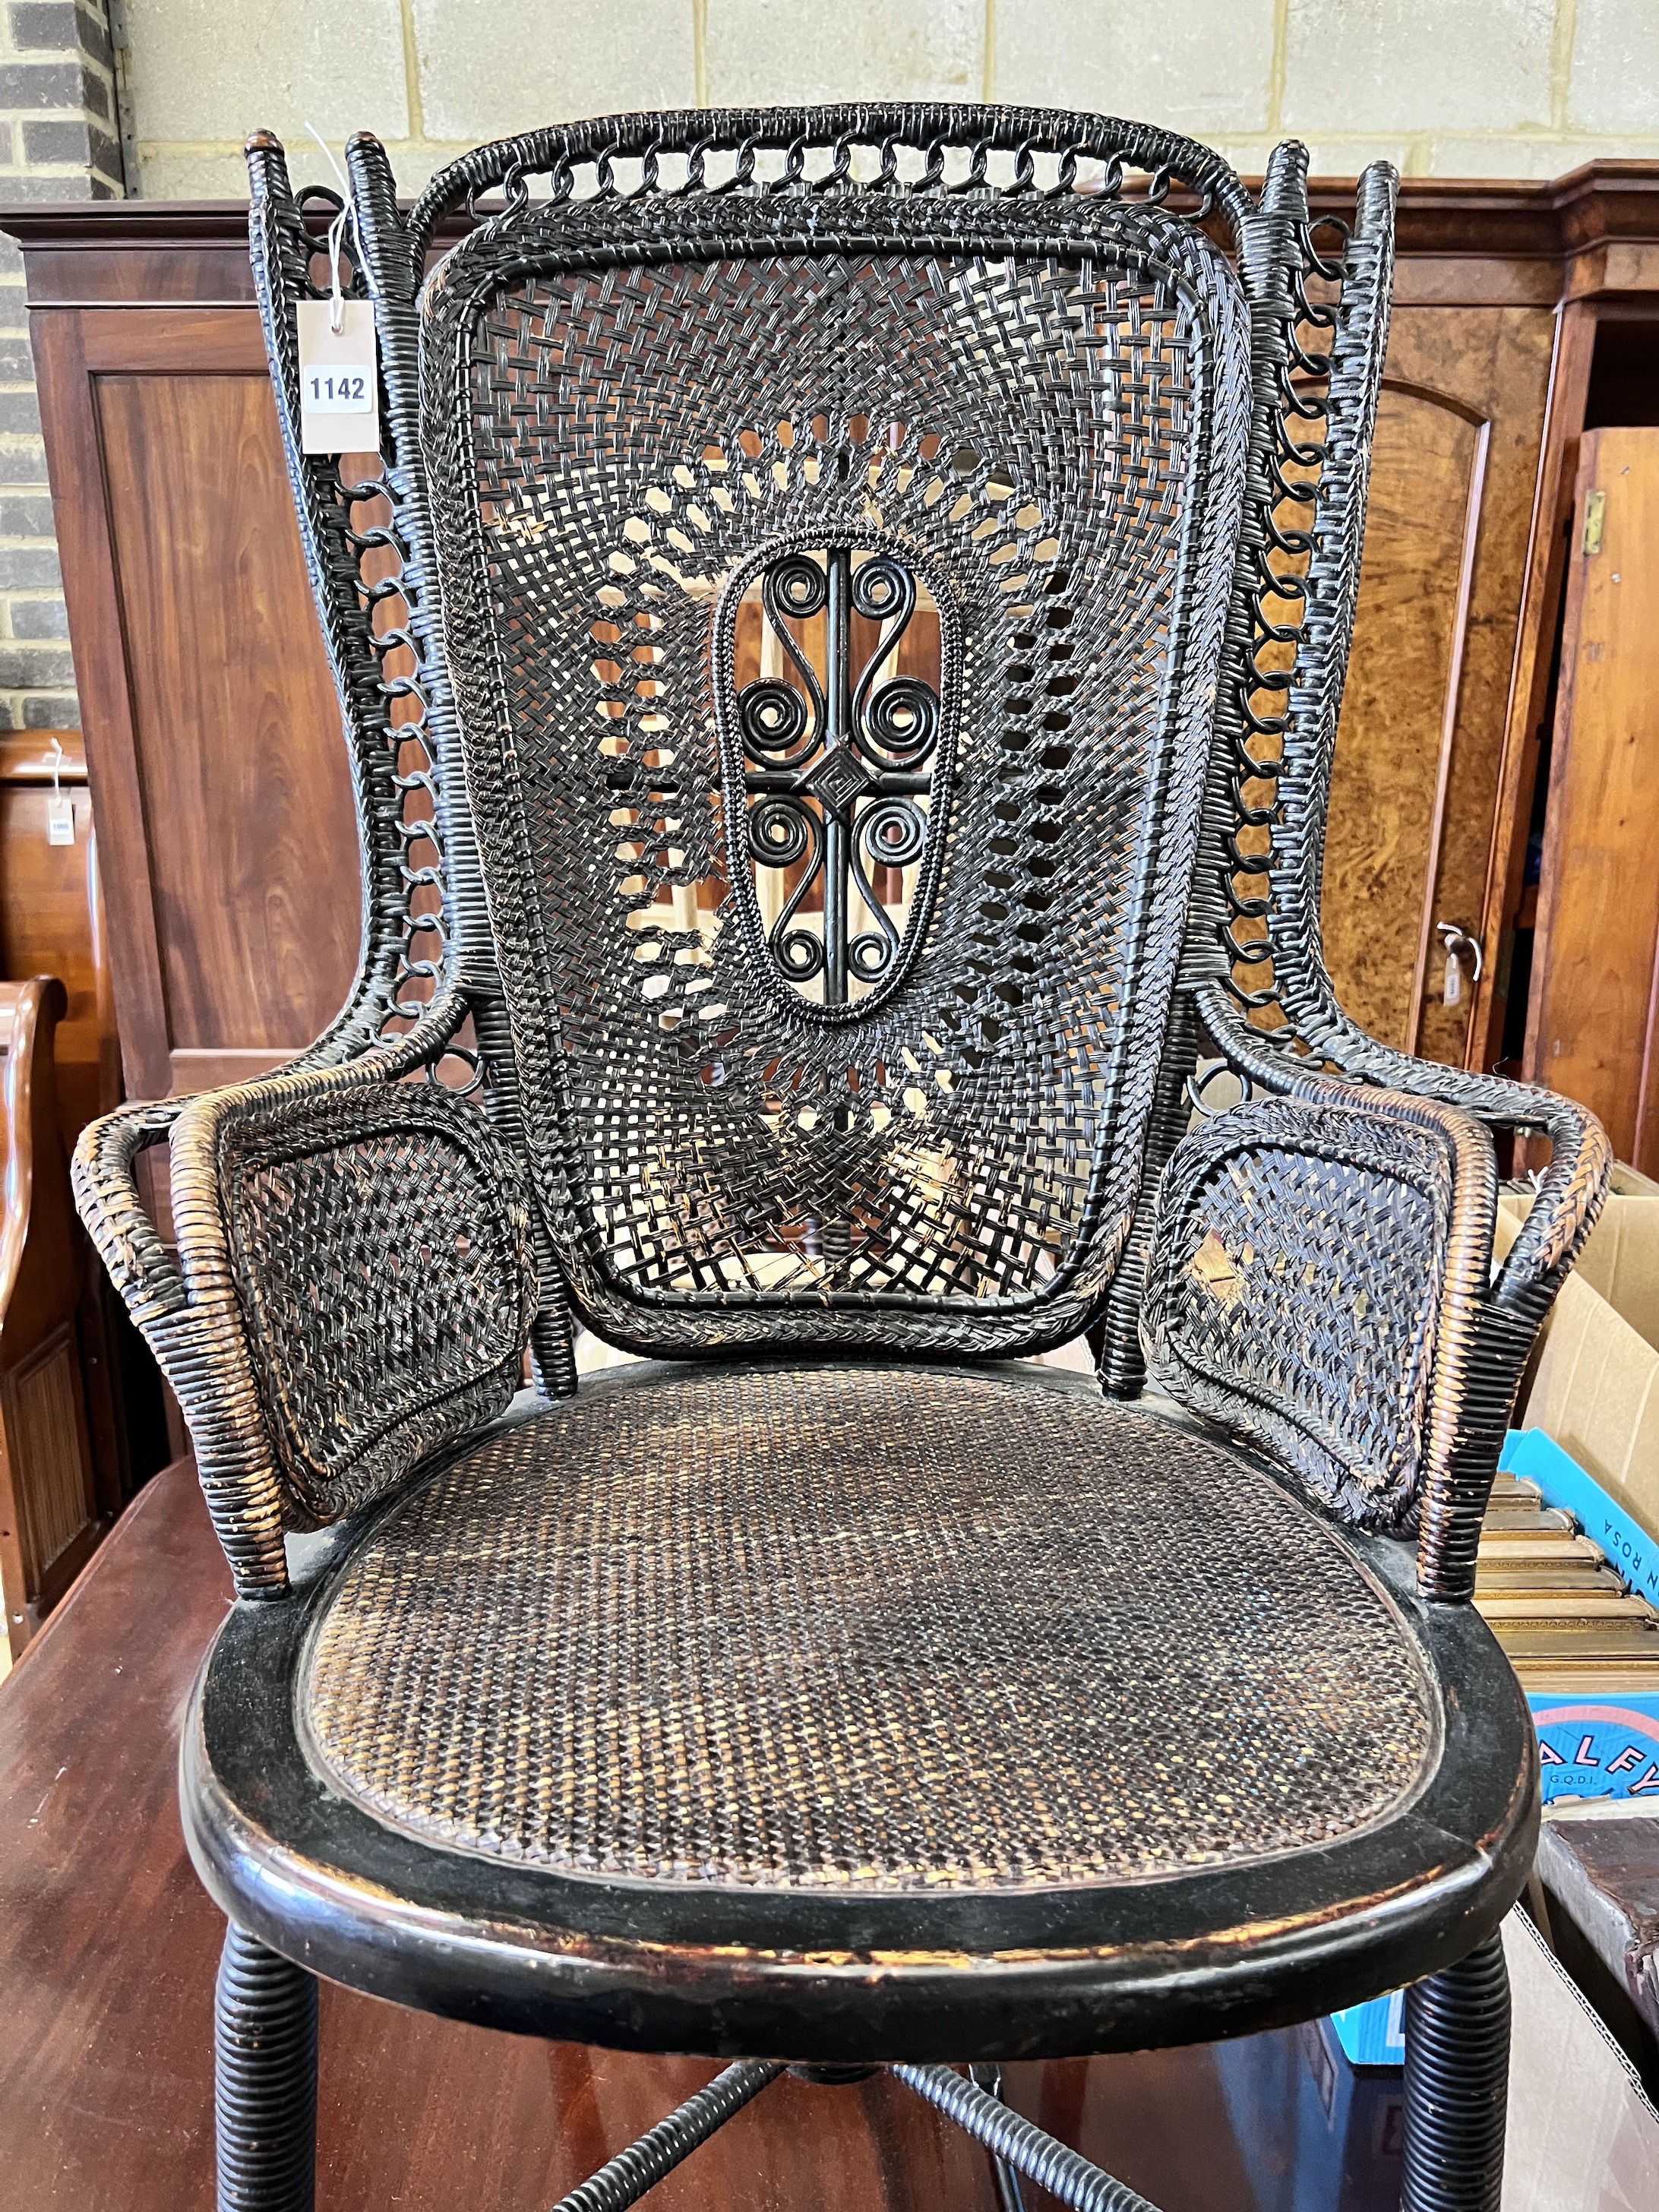
[[[1314,215],[1345,215],[1354,181],[1314,177]],[[438,243],[469,228],[456,212]],[[75,199],[0,208],[33,307],[254,305],[248,208],[237,199]],[[1659,290],[1659,161],[1590,161],[1548,184],[1405,177],[1400,261],[1553,263],[1553,299]],[[1544,279],[1544,270],[1537,272]]]

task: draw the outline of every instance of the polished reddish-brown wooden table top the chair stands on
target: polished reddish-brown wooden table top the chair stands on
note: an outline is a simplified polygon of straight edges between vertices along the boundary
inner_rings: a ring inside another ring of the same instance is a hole
[[[195,1473],[179,1462],[139,1493],[0,1686],[7,2205],[212,2205],[223,1922],[184,1851],[175,1759],[190,1681],[228,1604]],[[1225,2062],[1203,2046],[1013,2066],[1009,2095],[1164,2212],[1307,2212],[1325,2194],[1294,2194],[1307,2137],[1296,2112],[1316,2093],[1336,2126],[1343,2093],[1310,2033],[1254,2037]],[[332,1984],[321,2035],[323,2212],[544,2212],[714,2073],[456,2026]],[[1380,2194],[1367,2185],[1340,2205],[1389,2201],[1389,2174],[1398,2203],[1398,2124],[1383,2112],[1363,2132],[1352,2152],[1383,2146]],[[648,2203],[995,2212],[978,2146],[885,2077],[776,2084]],[[1029,2192],[1029,2203],[1037,2212],[1048,2199]]]

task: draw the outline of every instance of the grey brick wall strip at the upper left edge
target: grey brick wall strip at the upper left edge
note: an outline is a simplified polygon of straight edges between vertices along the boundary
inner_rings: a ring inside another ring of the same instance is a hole
[[[0,9],[0,199],[119,199],[102,0]],[[0,239],[0,728],[77,723],[18,248]]]

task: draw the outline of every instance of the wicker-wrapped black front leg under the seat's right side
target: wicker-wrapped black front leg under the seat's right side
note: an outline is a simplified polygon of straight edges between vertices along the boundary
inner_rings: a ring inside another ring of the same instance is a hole
[[[1504,1938],[1405,1993],[1402,2212],[1498,2212],[1509,2112]]]

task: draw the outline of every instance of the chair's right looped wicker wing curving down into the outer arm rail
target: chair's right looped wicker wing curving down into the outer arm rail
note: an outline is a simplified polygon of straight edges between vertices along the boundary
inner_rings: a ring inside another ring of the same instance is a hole
[[[1312,226],[1305,159],[1283,153],[1263,210],[1276,215],[1287,252],[1272,257],[1276,283],[1256,319],[1279,378],[1274,465],[1252,487],[1252,633],[1221,717],[1206,825],[1221,865],[1199,869],[1188,973],[1203,1029],[1261,1091],[1323,1095],[1323,1073],[1336,1073],[1453,1106],[1489,1130],[1548,1137],[1551,1166],[1489,1323],[1509,1316],[1531,1345],[1606,1190],[1610,1155],[1595,1115],[1533,1084],[1380,1044],[1343,1011],[1325,967],[1325,830],[1389,341],[1396,179],[1374,164],[1352,226]]]

